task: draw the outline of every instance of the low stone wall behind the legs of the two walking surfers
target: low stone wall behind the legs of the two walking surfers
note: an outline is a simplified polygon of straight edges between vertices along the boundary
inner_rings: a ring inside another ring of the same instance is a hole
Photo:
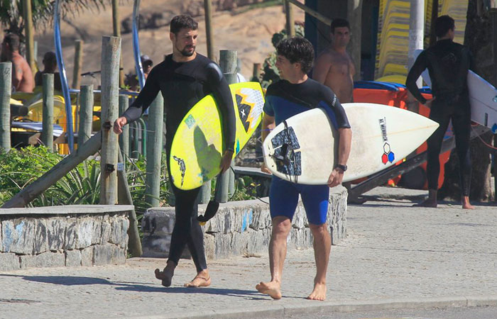
[[[332,189],[329,195],[327,222],[333,245],[346,236],[346,198],[347,192],[342,186]],[[263,198],[263,201],[268,202],[268,198]],[[199,206],[199,214],[203,213],[206,206]],[[174,222],[173,207],[148,209],[141,226],[143,257],[168,257]],[[292,226],[288,247],[312,247],[312,235],[301,202],[297,206]],[[259,200],[221,204],[216,216],[202,226],[202,230],[205,253],[209,259],[267,252],[271,237],[269,206]],[[188,252],[183,257],[189,257]]]

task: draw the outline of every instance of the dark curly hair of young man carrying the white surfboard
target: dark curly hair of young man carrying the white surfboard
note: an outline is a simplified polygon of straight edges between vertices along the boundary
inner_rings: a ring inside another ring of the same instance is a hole
[[[314,62],[314,47],[306,38],[293,37],[281,40],[276,47],[278,55],[286,57],[290,63],[300,63],[302,72],[309,73]]]

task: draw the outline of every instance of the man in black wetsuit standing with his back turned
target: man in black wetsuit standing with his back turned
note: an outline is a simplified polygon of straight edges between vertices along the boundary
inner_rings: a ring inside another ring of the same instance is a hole
[[[437,207],[438,176],[440,173],[439,152],[449,121],[452,120],[459,157],[462,208],[473,209],[469,203],[471,186],[471,157],[469,134],[471,130],[471,108],[469,105],[468,70],[473,68],[471,52],[464,45],[454,43],[454,19],[439,16],[435,21],[437,43],[421,52],[410,69],[405,85],[413,96],[430,108],[430,118],[439,123],[439,128],[428,139],[427,179],[429,196],[416,206]],[[428,69],[432,79],[433,99],[427,101],[417,88],[416,80]]]

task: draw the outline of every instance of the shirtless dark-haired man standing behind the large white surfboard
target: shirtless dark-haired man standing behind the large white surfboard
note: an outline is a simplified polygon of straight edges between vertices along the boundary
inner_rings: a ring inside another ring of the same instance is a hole
[[[332,45],[317,57],[312,79],[332,89],[341,103],[350,103],[354,101],[356,68],[345,50],[350,42],[349,21],[334,19],[331,36]]]

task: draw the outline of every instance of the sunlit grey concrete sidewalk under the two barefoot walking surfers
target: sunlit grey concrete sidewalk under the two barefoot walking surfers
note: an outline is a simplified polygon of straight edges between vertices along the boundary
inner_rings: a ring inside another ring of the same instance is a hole
[[[182,260],[173,286],[153,269],[164,259],[126,265],[0,273],[0,318],[281,318],[298,313],[497,305],[497,208],[459,204],[412,208],[424,191],[378,188],[349,206],[348,236],[332,247],[327,301],[307,301],[312,250],[288,252],[283,298],[255,290],[269,279],[268,257],[209,263],[212,286],[187,289],[195,268]],[[405,199],[408,198],[408,199]]]

